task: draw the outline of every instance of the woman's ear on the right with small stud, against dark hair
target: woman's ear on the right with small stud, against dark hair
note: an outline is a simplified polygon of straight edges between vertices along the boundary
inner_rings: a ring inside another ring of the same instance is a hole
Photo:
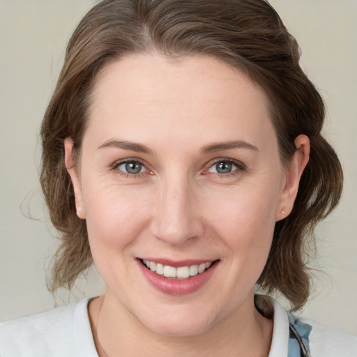
[[[275,212],[275,220],[282,220],[289,215],[293,209],[296,195],[298,193],[298,184],[303,174],[310,155],[310,140],[306,135],[296,137],[294,144],[296,151],[294,156],[286,168],[284,181],[277,210]]]

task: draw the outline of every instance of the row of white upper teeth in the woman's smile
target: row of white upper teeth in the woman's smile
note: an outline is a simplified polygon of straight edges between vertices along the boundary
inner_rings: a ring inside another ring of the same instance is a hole
[[[188,278],[200,273],[203,273],[207,268],[211,266],[211,262],[194,264],[190,266],[174,266],[163,265],[160,263],[154,263],[153,261],[143,259],[144,264],[151,270],[160,275],[164,275],[166,278]]]

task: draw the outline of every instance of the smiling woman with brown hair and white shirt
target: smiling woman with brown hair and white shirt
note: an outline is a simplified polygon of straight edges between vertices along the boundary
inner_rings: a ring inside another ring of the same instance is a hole
[[[6,356],[355,356],[287,314],[342,170],[324,104],[266,1],[102,1],[70,39],[43,126],[61,231],[52,290],[98,298],[0,325]]]

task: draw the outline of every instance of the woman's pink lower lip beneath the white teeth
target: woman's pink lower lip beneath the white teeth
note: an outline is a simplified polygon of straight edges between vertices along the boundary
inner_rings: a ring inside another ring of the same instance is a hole
[[[151,285],[162,291],[165,294],[170,295],[187,295],[192,294],[201,288],[208,280],[211,278],[215,269],[218,266],[218,261],[216,261],[210,268],[206,269],[203,273],[197,274],[187,279],[169,279],[164,276],[158,275],[155,272],[149,270],[142,264],[142,262],[137,259],[139,267],[142,270],[145,278],[149,280]]]

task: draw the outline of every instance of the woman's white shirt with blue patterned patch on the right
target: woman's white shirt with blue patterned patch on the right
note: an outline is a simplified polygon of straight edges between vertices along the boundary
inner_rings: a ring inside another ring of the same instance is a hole
[[[79,303],[0,324],[1,357],[98,357],[86,298]],[[357,357],[357,337],[296,319],[276,301],[273,304],[273,340],[268,357],[300,357],[291,328],[305,341],[311,357]],[[289,323],[290,319],[290,323]],[[307,333],[306,333],[307,331]],[[299,337],[298,337],[299,339]]]

